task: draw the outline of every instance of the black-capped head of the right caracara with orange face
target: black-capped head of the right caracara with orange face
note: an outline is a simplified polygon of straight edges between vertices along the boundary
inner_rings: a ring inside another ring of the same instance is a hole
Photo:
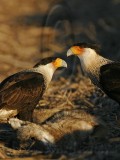
[[[67,56],[76,55],[79,58],[84,56],[92,56],[99,52],[100,47],[97,44],[76,43],[67,51]]]

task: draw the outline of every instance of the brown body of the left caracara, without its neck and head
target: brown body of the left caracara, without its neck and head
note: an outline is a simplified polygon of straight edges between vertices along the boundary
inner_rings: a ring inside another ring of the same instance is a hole
[[[3,81],[0,85],[0,119],[18,113],[23,117],[25,111],[32,113],[45,87],[42,74],[33,71],[19,72]]]

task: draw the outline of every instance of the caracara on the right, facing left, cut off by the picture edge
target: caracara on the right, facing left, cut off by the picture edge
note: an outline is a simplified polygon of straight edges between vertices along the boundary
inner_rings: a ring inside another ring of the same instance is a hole
[[[78,56],[93,84],[120,104],[120,63],[100,56],[96,44],[74,44],[67,51],[67,56],[71,55]]]

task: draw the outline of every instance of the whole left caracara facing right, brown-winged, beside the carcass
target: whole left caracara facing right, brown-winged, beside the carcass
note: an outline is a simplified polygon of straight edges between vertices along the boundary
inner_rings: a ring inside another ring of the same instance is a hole
[[[33,68],[3,80],[0,84],[0,121],[14,116],[32,121],[33,110],[59,67],[67,67],[66,62],[60,58],[48,57]]]

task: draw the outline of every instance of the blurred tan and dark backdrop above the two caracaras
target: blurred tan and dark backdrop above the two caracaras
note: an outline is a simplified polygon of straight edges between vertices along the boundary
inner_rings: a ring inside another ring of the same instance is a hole
[[[120,0],[0,0],[0,81],[82,41],[120,59]]]

